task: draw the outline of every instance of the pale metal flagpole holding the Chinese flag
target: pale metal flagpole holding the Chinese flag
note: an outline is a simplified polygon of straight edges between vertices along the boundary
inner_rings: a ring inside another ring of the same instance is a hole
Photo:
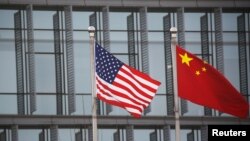
[[[172,53],[173,84],[174,84],[175,141],[180,141],[180,113],[179,113],[179,98],[177,89],[177,65],[176,65],[177,28],[171,27],[170,32],[171,32],[171,53]]]

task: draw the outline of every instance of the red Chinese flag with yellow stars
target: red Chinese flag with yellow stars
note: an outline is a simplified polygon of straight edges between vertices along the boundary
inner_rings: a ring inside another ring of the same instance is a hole
[[[176,47],[178,95],[193,103],[247,118],[249,104],[215,68]]]

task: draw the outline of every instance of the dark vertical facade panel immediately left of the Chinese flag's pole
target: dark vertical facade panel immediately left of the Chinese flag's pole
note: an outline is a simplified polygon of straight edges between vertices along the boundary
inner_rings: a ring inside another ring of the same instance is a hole
[[[174,115],[174,92],[173,92],[173,68],[171,55],[171,16],[170,14],[163,17],[164,32],[164,52],[165,52],[165,72],[166,72],[166,98],[167,114]]]

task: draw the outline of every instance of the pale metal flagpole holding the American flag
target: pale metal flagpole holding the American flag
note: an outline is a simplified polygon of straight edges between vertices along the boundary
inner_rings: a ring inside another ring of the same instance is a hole
[[[97,117],[96,117],[96,85],[95,85],[95,27],[89,26],[90,37],[90,65],[91,65],[91,90],[92,90],[92,134],[93,141],[97,141]]]

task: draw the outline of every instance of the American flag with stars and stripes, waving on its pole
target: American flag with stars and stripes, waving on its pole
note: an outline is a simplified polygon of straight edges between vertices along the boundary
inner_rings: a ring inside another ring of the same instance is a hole
[[[141,117],[161,83],[124,64],[98,44],[95,61],[97,97]]]

